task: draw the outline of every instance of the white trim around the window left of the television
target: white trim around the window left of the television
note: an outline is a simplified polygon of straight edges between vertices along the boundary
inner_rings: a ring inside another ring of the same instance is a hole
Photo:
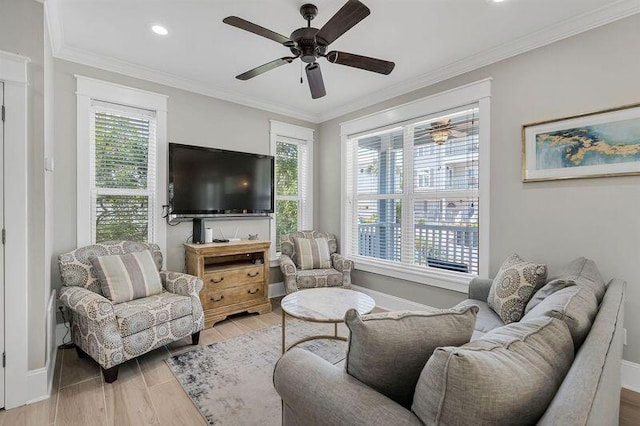
[[[77,131],[77,234],[78,247],[91,244],[91,100],[147,109],[156,112],[156,210],[167,204],[167,96],[82,75],[76,77]],[[160,211],[153,212],[153,241],[165,254],[167,228]]]

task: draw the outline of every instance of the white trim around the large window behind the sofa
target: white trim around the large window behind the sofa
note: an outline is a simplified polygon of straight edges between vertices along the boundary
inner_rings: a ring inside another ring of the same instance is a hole
[[[355,268],[367,272],[387,275],[408,281],[413,281],[434,287],[466,293],[473,274],[424,268],[411,264],[372,259],[349,253],[352,247],[350,226],[352,218],[347,217],[346,203],[348,202],[346,185],[347,170],[346,157],[348,140],[355,135],[391,128],[398,123],[419,117],[437,114],[442,111],[458,108],[463,105],[476,103],[479,106],[479,137],[481,141],[479,152],[479,189],[481,200],[479,208],[479,274],[480,277],[489,275],[489,235],[490,235],[490,141],[491,141],[491,79],[484,79],[455,89],[447,90],[426,98],[418,99],[403,105],[392,107],[364,117],[340,123],[340,137],[342,141],[342,199],[341,199],[341,252],[354,259]]]

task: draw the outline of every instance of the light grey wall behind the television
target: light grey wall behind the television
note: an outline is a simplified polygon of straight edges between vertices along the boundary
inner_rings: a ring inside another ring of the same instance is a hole
[[[304,121],[73,62],[54,60],[54,72],[56,122],[54,256],[76,248],[76,79],[74,74],[168,95],[169,142],[269,154],[269,120],[276,119],[317,129],[316,125]],[[211,221],[207,226],[215,228],[220,226],[227,238],[233,236],[238,226],[239,237],[246,238],[249,233],[258,233],[260,238],[269,239],[268,220]],[[191,236],[191,232],[191,222],[168,227],[167,253],[165,253],[168,269],[183,270],[182,244]],[[216,235],[217,232],[216,229]],[[54,271],[53,276],[55,286],[58,287],[60,277],[57,271]],[[281,281],[281,278],[274,270],[272,282],[277,281]]]

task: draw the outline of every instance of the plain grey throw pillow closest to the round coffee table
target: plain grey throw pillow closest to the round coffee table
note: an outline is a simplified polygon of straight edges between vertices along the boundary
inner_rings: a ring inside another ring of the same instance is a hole
[[[467,343],[477,306],[432,312],[345,315],[351,332],[347,373],[406,408],[411,407],[420,371],[444,345]]]

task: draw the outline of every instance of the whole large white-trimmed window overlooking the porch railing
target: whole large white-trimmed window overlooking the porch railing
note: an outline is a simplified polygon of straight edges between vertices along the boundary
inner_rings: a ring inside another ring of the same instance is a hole
[[[478,86],[343,123],[342,235],[356,267],[458,290],[469,280],[458,273],[486,276],[490,84]]]

